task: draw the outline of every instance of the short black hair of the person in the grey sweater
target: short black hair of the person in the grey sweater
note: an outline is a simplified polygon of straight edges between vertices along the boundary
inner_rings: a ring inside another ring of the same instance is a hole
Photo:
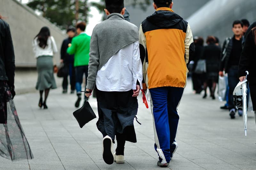
[[[124,0],[105,0],[106,9],[109,13],[121,13],[124,8]]]

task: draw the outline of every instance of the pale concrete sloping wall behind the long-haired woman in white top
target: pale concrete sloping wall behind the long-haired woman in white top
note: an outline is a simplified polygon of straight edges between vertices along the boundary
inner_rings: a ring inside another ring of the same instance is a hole
[[[37,16],[34,11],[16,0],[0,0],[0,13],[5,17],[11,28],[12,40],[17,67],[35,67],[36,59],[32,51],[32,40],[43,26],[48,26],[60,49],[66,37],[61,30],[43,17]],[[59,61],[59,52],[55,60]]]

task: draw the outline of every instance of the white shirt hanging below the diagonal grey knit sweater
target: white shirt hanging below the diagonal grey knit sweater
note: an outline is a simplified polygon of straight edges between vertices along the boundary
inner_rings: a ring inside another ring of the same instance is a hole
[[[139,41],[120,49],[98,70],[96,86],[100,91],[126,92],[136,90],[137,80],[142,89]]]

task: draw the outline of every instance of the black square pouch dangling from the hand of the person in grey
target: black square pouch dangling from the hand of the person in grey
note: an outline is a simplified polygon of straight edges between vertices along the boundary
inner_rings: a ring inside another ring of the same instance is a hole
[[[75,116],[80,128],[83,128],[83,126],[90,122],[92,119],[96,118],[95,113],[92,110],[92,107],[90,106],[89,102],[87,101],[84,103],[84,106],[80,109],[76,110],[73,115]]]

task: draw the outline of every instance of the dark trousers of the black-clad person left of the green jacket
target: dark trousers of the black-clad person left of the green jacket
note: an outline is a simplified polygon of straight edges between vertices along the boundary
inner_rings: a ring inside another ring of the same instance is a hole
[[[76,72],[75,72],[74,64],[73,63],[65,64],[65,67],[68,67],[69,82],[70,82],[71,90],[75,90]],[[63,77],[62,88],[68,89],[68,75]]]

